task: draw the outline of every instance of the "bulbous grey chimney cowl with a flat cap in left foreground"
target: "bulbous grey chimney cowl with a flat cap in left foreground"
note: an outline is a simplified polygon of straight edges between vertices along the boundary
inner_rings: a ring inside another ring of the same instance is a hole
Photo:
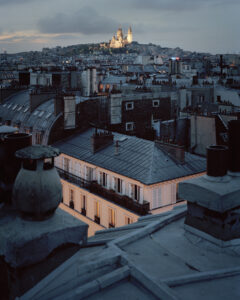
[[[53,215],[62,199],[60,177],[54,167],[58,149],[34,145],[16,152],[22,160],[13,187],[12,202],[22,217],[32,221]]]

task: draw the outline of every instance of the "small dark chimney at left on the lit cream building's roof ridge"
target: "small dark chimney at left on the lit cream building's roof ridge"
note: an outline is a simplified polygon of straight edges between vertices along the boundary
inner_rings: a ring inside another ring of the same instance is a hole
[[[94,134],[91,137],[92,153],[96,153],[99,150],[106,148],[113,144],[113,134],[109,131],[99,131],[95,129]]]

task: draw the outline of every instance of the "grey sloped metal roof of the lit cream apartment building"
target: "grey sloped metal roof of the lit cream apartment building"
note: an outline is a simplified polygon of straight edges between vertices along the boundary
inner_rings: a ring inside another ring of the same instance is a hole
[[[113,133],[114,141],[119,141],[118,155],[115,155],[114,144],[93,154],[91,151],[93,133],[94,129],[89,129],[59,141],[53,146],[64,154],[147,185],[206,170],[205,158],[185,153],[185,162],[177,163],[158,149],[154,142],[119,133]]]

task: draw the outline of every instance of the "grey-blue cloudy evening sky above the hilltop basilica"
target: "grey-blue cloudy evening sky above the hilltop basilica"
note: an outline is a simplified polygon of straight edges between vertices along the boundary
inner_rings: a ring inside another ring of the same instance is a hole
[[[133,39],[191,51],[240,53],[240,0],[0,0],[0,53]]]

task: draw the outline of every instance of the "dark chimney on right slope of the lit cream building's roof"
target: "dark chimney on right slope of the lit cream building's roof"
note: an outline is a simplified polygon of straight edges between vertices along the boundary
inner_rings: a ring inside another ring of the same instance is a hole
[[[183,146],[155,141],[155,146],[169,155],[173,160],[183,164],[185,162],[185,149]]]

